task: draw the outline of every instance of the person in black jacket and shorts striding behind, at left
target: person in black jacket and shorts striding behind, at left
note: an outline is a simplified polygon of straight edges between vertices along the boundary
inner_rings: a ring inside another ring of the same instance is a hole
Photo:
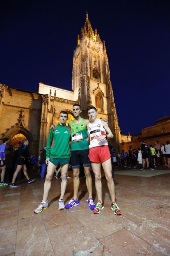
[[[15,173],[13,174],[13,178],[12,178],[12,183],[9,185],[9,187],[18,187],[18,185],[15,183],[17,174],[20,172],[20,170],[23,168],[23,172],[25,177],[27,178],[27,182],[31,183],[32,181],[34,181],[35,179],[30,179],[28,177],[28,173],[27,173],[27,167],[26,164],[29,160],[29,151],[28,151],[28,140],[23,140],[23,144],[22,146],[19,148],[18,151],[18,158],[17,158],[17,167],[15,170]]]

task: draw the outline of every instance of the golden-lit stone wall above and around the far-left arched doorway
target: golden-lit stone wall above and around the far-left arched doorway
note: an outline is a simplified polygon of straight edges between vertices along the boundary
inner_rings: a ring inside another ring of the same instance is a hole
[[[9,138],[13,147],[19,146],[23,139],[30,142],[30,151],[38,152],[41,95],[9,88],[0,84],[0,134]],[[19,135],[19,136],[17,136]]]

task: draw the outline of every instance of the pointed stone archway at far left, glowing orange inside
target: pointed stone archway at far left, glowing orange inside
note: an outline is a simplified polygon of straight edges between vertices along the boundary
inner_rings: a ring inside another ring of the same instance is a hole
[[[9,139],[9,143],[13,146],[13,148],[19,147],[23,143],[23,140],[27,139],[29,141],[29,148],[32,149],[32,134],[23,126],[16,126],[10,129],[7,133],[5,133],[4,138]]]

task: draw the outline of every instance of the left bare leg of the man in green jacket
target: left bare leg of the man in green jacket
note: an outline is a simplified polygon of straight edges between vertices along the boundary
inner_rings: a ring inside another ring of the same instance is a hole
[[[51,188],[51,180],[54,174],[54,170],[57,166],[55,166],[53,163],[49,162],[47,166],[47,175],[46,180],[44,182],[44,194],[43,194],[43,202],[47,202],[48,199],[48,192]]]

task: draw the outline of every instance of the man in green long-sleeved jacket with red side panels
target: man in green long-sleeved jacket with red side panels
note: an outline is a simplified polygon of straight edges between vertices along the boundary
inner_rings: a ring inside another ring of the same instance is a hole
[[[46,164],[47,175],[44,182],[44,194],[43,200],[40,205],[35,209],[34,213],[39,213],[48,208],[48,192],[51,188],[51,180],[54,174],[54,170],[58,165],[62,167],[62,183],[61,183],[61,195],[59,199],[59,210],[64,210],[64,193],[67,186],[67,171],[70,162],[70,137],[71,129],[66,126],[68,119],[68,113],[65,111],[60,112],[60,124],[50,130],[47,146],[46,146]]]

